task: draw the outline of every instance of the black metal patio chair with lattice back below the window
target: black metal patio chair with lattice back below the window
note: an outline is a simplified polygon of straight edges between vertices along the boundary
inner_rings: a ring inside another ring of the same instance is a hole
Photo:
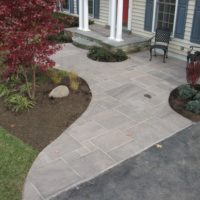
[[[171,31],[169,29],[156,29],[156,34],[150,41],[155,37],[155,42],[150,45],[150,61],[152,60],[152,50],[154,49],[154,55],[156,56],[156,49],[161,49],[164,51],[163,62],[165,63],[165,58],[168,58],[168,46],[170,41]]]

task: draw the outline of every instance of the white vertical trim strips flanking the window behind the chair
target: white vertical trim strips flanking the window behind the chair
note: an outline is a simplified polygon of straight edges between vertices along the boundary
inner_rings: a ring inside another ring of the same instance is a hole
[[[157,6],[158,0],[154,0],[154,6],[153,6],[153,20],[152,20],[152,33],[155,33],[155,25],[156,25],[156,6]],[[175,29],[176,29],[176,19],[177,19],[177,12],[178,12],[178,3],[179,0],[176,0],[175,3],[175,13],[174,13],[174,23],[173,23],[173,31],[171,34],[171,37],[174,38],[175,35]]]

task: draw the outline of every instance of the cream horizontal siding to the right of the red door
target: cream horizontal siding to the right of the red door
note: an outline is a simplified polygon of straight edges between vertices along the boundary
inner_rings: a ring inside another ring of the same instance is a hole
[[[145,37],[151,37],[153,33],[144,30],[145,6],[146,0],[133,0],[132,32],[135,34],[143,35]],[[190,42],[194,8],[195,0],[190,0],[188,2],[184,39],[172,38],[172,41],[170,42],[169,51],[173,54],[175,53],[180,56],[185,56],[191,45],[200,47],[200,45]]]

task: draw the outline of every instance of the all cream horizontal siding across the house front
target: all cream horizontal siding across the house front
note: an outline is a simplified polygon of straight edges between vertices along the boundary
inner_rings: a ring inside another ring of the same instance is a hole
[[[187,17],[186,17],[184,39],[172,38],[172,40],[170,41],[169,52],[173,54],[185,56],[191,45],[200,47],[200,45],[190,42],[195,2],[196,0],[188,1],[188,10],[187,10]],[[74,3],[75,13],[77,13],[76,7],[77,5],[75,1]],[[145,7],[146,7],[146,0],[133,0],[131,30],[132,30],[132,33],[135,33],[144,37],[151,37],[152,35],[154,35],[154,33],[144,30]],[[99,24],[99,25],[103,25],[103,26],[108,25],[109,0],[100,0],[100,16],[99,16],[99,19],[94,19],[94,21],[96,24]]]

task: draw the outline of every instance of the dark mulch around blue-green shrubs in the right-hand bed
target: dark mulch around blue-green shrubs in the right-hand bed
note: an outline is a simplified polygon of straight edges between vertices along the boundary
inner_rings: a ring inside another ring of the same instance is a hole
[[[200,85],[197,85],[196,88],[200,91]],[[175,110],[180,115],[192,120],[192,121],[200,121],[200,115],[187,111],[185,109],[185,104],[187,101],[184,101],[178,96],[178,88],[175,88],[169,96],[169,104],[173,110]]]

